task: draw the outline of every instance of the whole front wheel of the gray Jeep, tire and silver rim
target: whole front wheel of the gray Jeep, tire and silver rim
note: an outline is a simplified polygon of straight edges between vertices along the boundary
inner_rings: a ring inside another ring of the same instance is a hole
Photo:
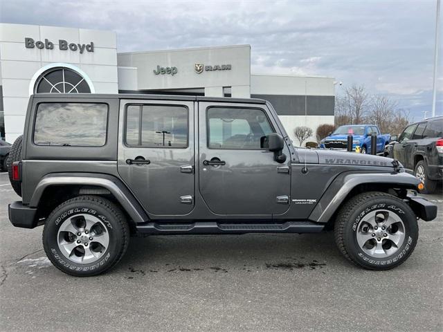
[[[334,236],[338,249],[354,264],[388,270],[412,254],[418,239],[417,218],[396,196],[367,192],[343,205]]]

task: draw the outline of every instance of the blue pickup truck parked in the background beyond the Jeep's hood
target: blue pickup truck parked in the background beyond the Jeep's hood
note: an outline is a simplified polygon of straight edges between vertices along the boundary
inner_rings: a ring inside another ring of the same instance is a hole
[[[379,127],[374,124],[353,124],[338,127],[329,136],[323,138],[320,147],[325,149],[347,149],[347,136],[352,135],[352,151],[361,151],[362,154],[371,153],[371,135],[377,135],[376,154],[382,154],[388,145],[390,134],[381,134]]]

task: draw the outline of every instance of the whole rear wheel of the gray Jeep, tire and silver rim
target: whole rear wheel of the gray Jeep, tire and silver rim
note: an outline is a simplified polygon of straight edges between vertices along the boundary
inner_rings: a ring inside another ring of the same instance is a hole
[[[43,246],[52,264],[69,275],[98,275],[120,261],[129,227],[120,209],[98,196],[59,205],[44,225]]]

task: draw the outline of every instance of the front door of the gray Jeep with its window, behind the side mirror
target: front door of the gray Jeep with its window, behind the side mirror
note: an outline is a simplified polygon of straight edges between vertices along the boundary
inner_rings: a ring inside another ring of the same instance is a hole
[[[278,132],[265,108],[199,102],[199,190],[214,213],[270,215],[289,208],[289,148],[282,164],[260,148],[262,136]]]

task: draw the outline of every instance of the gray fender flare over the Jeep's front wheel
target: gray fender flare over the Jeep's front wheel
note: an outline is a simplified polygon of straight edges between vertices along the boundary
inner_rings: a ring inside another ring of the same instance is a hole
[[[344,172],[329,185],[309,215],[309,220],[327,223],[340,208],[347,194],[357,185],[389,185],[392,188],[417,189],[420,181],[406,172],[401,173],[349,173]]]

